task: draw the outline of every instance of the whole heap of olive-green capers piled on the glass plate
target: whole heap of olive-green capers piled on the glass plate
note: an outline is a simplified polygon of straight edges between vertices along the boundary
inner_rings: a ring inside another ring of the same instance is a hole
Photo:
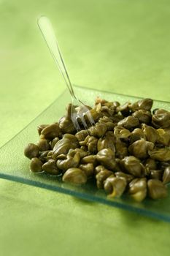
[[[124,192],[138,202],[147,196],[166,197],[170,112],[151,110],[152,104],[152,99],[142,99],[120,105],[98,97],[94,107],[88,107],[96,124],[80,132],[72,124],[69,104],[58,122],[37,127],[38,143],[24,150],[30,170],[62,176],[72,184],[95,179],[109,198]]]

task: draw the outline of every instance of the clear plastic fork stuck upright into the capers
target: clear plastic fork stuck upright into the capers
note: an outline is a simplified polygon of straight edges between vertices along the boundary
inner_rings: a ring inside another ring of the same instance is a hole
[[[42,32],[43,37],[45,38],[45,42],[47,43],[50,53],[53,56],[55,64],[57,64],[58,69],[60,70],[61,75],[63,76],[63,79],[66,83],[66,86],[69,89],[69,93],[72,98],[72,123],[74,124],[74,127],[77,129],[77,132],[81,130],[79,121],[81,121],[85,129],[88,129],[88,124],[86,121],[87,119],[85,119],[85,117],[88,118],[88,121],[91,126],[95,124],[95,121],[93,120],[93,116],[91,115],[88,107],[86,107],[85,104],[82,103],[82,101],[80,101],[80,99],[78,99],[77,96],[74,94],[73,86],[69,78],[69,73],[67,72],[66,64],[63,61],[61,50],[58,46],[58,42],[53,31],[53,26],[51,25],[50,20],[45,16],[41,16],[37,20],[37,23],[40,31]]]

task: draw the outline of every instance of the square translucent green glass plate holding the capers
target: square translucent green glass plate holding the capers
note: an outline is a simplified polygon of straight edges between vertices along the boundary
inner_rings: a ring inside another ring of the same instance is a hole
[[[140,98],[113,94],[107,91],[96,91],[76,86],[77,96],[88,105],[93,105],[94,99],[99,96],[107,100],[116,100],[120,103],[131,101],[135,102]],[[23,156],[23,148],[28,143],[36,143],[39,139],[36,127],[39,124],[51,124],[58,121],[65,113],[66,105],[70,102],[70,96],[66,91],[61,94],[46,110],[37,116],[27,127],[15,135],[0,148],[0,178],[18,181],[24,184],[55,190],[69,195],[74,195],[85,200],[105,203],[109,206],[124,208],[129,211],[136,211],[150,217],[163,219],[170,222],[170,187],[169,196],[162,200],[146,199],[143,203],[136,203],[127,195],[118,199],[110,200],[104,190],[96,189],[94,184],[88,183],[83,186],[75,186],[63,183],[61,177],[54,177],[45,173],[34,174],[29,171],[30,160]],[[164,108],[170,110],[170,102],[154,102],[153,108]]]

